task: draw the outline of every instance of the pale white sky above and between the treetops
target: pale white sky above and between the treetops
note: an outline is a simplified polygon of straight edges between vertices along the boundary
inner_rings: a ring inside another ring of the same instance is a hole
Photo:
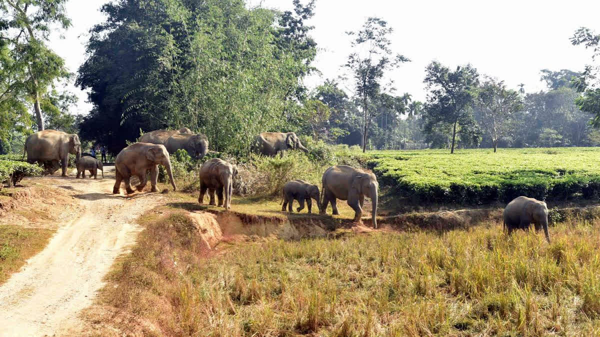
[[[51,47],[76,72],[85,60],[85,43],[92,25],[104,21],[99,11],[107,0],[70,0],[68,15],[73,26],[65,39],[52,38]],[[292,0],[248,0],[251,6],[286,10]],[[307,0],[303,1],[304,3]],[[572,46],[575,29],[586,26],[600,33],[600,1],[386,1],[317,0],[316,15],[309,24],[319,47],[314,65],[322,76],[306,84],[313,88],[326,78],[334,79],[345,70],[350,38],[344,33],[361,28],[370,16],[387,20],[395,29],[392,49],[412,59],[390,74],[397,94],[409,92],[425,100],[422,83],[425,67],[437,60],[455,67],[471,63],[480,74],[505,80],[511,88],[525,83],[526,92],[544,89],[539,71],[569,69],[580,71],[591,60],[590,52]],[[85,92],[74,86],[80,97],[72,113],[88,113]]]

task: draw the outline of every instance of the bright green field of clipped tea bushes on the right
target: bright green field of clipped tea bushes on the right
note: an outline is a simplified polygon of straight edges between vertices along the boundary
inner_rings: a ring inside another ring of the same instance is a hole
[[[368,166],[412,203],[488,204],[600,195],[599,148],[376,151]]]

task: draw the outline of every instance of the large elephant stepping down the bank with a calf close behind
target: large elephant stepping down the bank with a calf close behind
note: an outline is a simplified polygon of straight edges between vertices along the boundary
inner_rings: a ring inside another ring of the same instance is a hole
[[[371,198],[373,210],[371,217],[373,226],[377,228],[377,177],[375,174],[355,169],[346,165],[329,167],[323,173],[323,189],[321,192],[323,202],[320,213],[325,214],[327,204],[331,202],[333,214],[340,214],[337,209],[336,199],[348,200],[348,205],[355,211],[354,221],[362,223],[362,205],[365,195]]]

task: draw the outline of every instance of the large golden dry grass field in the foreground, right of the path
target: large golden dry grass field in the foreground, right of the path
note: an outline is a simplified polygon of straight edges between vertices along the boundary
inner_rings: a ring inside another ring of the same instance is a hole
[[[600,221],[553,242],[493,223],[208,254],[183,210],[145,216],[101,301],[166,335],[597,335]],[[121,329],[127,330],[127,324]]]

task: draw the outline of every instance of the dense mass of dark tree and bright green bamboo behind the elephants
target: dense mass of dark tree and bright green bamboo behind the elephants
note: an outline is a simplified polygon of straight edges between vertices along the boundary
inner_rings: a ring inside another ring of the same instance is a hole
[[[256,134],[296,128],[316,53],[303,24],[312,3],[280,14],[239,0],[120,0],[102,11],[77,78],[94,104],[83,138],[116,153],[139,125],[189,127],[213,151],[247,157]]]

